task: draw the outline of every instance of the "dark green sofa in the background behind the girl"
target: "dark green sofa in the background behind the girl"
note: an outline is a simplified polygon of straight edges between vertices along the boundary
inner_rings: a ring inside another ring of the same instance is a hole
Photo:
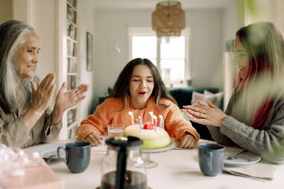
[[[168,91],[170,95],[173,96],[173,98],[175,98],[175,101],[177,101],[179,108],[182,109],[183,105],[190,105],[192,103],[192,95],[197,93],[203,94],[204,91],[217,94],[219,93],[219,88],[188,86],[185,88],[168,88]],[[110,92],[111,88],[108,88],[108,93]],[[99,103],[102,103],[102,101],[104,101],[105,96],[106,95],[99,96]],[[219,108],[223,109],[223,98],[222,98],[222,103],[219,106],[220,106]],[[184,118],[186,120],[189,120],[185,115]],[[196,122],[192,122],[192,126],[195,127],[197,132],[200,134],[201,139],[213,140],[208,128],[205,125],[200,125]]]

